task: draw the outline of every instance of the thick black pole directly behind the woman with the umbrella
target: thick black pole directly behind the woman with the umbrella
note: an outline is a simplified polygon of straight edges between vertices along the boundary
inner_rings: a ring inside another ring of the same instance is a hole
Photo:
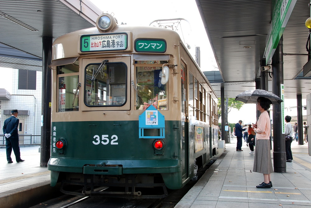
[[[272,93],[281,97],[283,84],[283,36],[272,57]],[[274,172],[286,173],[285,139],[282,134],[281,105],[273,105],[273,166]]]

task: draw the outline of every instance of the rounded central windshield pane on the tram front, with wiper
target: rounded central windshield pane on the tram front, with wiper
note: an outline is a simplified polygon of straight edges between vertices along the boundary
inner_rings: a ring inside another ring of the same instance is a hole
[[[85,68],[84,103],[89,107],[122,106],[126,102],[124,63],[90,64]]]

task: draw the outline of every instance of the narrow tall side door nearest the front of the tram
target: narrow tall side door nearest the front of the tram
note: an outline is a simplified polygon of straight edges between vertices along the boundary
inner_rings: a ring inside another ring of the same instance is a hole
[[[186,77],[186,64],[181,62],[181,141],[182,141],[182,180],[185,181],[189,175],[188,155],[189,155],[189,140],[188,140],[188,103],[187,103],[187,77]]]

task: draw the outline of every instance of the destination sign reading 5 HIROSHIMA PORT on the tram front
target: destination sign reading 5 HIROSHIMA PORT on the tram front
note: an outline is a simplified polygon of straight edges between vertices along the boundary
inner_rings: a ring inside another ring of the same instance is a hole
[[[127,47],[128,34],[126,33],[81,36],[81,52],[125,50]]]

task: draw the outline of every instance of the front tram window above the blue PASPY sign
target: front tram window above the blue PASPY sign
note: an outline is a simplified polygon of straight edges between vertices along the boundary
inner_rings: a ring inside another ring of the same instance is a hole
[[[165,62],[167,63],[167,61]],[[148,63],[151,64],[148,66]],[[163,63],[164,61],[136,61],[135,105],[137,110],[146,110],[150,105],[158,110],[167,110],[167,84],[162,85],[160,79]]]

